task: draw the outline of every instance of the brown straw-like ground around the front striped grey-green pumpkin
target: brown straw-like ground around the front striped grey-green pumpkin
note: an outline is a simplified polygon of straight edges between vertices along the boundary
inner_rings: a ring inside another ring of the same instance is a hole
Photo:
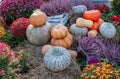
[[[18,74],[17,79],[77,79],[80,75],[80,67],[75,60],[72,60],[71,65],[64,71],[52,72],[44,66],[41,48],[42,46],[34,46],[29,43],[14,48],[15,51],[24,50],[32,55],[32,58],[27,58],[28,72]]]

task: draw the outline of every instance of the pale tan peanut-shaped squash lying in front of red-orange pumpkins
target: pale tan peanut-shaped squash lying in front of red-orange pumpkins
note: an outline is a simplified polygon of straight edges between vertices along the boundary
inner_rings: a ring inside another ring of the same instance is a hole
[[[86,20],[84,18],[77,18],[76,25],[78,27],[92,27],[93,26],[93,21]]]

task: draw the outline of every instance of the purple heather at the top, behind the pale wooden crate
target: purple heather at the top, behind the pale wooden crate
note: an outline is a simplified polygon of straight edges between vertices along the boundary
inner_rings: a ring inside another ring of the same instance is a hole
[[[51,0],[41,6],[41,10],[48,16],[69,12],[71,8],[70,0]]]

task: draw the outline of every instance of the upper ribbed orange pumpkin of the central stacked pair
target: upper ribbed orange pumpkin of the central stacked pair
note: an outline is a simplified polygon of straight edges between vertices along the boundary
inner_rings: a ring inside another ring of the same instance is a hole
[[[52,38],[64,38],[67,35],[68,28],[63,24],[58,24],[51,29]]]

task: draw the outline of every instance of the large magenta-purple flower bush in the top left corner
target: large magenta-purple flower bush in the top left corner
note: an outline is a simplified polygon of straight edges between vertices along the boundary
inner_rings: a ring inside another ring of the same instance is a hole
[[[0,3],[0,16],[9,25],[19,17],[29,17],[42,3],[42,0],[4,0]]]

